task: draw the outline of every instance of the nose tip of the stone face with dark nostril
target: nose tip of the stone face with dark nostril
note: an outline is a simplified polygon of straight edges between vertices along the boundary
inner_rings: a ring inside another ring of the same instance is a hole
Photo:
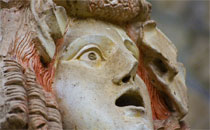
[[[135,60],[128,67],[126,67],[125,70],[122,70],[121,73],[114,76],[112,82],[114,84],[121,85],[123,83],[134,81],[137,68],[138,68],[138,62]]]

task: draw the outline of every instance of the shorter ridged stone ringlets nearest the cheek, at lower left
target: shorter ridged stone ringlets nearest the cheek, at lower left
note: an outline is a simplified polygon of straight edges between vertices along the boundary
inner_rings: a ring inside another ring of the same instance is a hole
[[[32,71],[26,73],[29,129],[62,129],[61,115],[55,98],[37,84]]]

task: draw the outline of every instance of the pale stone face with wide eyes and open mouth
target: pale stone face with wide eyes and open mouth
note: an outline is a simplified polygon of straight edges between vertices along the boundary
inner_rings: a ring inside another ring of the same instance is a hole
[[[64,129],[152,129],[149,95],[136,74],[138,54],[118,27],[70,24],[53,84]]]

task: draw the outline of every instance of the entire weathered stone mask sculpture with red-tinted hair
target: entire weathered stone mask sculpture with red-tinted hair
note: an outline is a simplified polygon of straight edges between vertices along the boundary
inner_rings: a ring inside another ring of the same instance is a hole
[[[185,69],[150,3],[0,2],[0,129],[188,129]]]

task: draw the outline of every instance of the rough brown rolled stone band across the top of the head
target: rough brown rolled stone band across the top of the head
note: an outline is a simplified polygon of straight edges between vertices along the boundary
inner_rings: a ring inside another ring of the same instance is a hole
[[[145,0],[54,0],[76,17],[96,18],[117,23],[149,18],[151,4]]]

